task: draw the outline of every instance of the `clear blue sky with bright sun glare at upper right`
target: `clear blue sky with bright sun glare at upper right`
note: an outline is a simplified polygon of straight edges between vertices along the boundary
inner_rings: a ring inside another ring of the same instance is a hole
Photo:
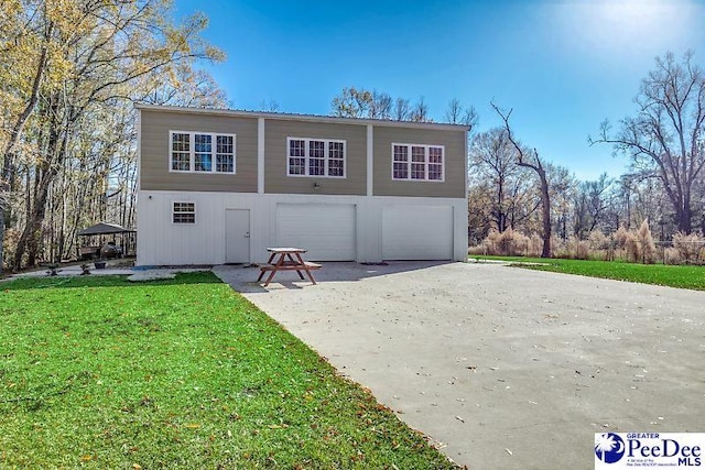
[[[175,0],[203,11],[225,63],[206,68],[238,109],[270,100],[328,114],[344,87],[475,106],[478,131],[513,108],[512,129],[582,179],[618,176],[626,161],[588,146],[599,123],[633,114],[655,56],[695,52],[705,67],[703,0],[267,1]]]

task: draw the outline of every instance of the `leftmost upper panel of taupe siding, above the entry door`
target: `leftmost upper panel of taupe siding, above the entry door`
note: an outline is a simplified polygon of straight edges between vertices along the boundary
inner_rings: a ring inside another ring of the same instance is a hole
[[[140,188],[257,193],[257,118],[141,110]],[[169,171],[170,131],[236,134],[236,174]]]

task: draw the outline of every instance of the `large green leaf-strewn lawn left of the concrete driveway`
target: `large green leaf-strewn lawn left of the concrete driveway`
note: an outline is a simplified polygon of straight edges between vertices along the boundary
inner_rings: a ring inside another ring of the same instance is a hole
[[[2,468],[455,468],[210,273],[0,284]]]

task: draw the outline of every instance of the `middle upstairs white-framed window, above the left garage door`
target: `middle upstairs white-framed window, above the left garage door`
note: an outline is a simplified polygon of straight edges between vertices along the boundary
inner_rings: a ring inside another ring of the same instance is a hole
[[[345,141],[286,139],[286,175],[345,177]]]

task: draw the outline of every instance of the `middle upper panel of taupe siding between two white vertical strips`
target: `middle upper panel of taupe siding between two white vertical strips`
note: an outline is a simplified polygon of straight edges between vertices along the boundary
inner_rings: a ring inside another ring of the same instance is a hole
[[[346,141],[345,178],[288,176],[286,138]],[[318,183],[318,188],[314,188]],[[367,127],[293,120],[264,120],[264,193],[365,195]]]

